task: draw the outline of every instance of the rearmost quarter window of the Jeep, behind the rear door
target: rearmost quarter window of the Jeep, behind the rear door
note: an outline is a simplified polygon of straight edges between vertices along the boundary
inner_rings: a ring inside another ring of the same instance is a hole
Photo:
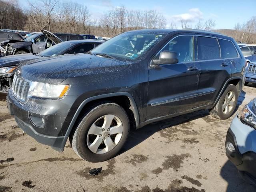
[[[221,58],[236,58],[238,57],[236,48],[231,41],[227,41],[224,39],[218,39],[221,50]]]

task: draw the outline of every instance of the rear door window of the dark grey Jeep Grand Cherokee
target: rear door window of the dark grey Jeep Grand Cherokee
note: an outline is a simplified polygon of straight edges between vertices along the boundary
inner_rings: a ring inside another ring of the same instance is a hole
[[[220,59],[220,47],[216,38],[198,37],[198,60]]]

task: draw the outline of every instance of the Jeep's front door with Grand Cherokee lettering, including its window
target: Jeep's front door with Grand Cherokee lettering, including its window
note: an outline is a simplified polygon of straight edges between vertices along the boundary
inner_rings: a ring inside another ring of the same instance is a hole
[[[194,36],[177,36],[162,50],[176,52],[178,63],[150,66],[147,120],[190,110],[196,101],[200,64],[194,62]]]

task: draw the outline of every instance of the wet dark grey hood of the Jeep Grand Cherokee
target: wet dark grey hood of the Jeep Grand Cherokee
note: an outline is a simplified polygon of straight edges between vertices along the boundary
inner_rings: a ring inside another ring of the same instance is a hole
[[[124,70],[130,65],[90,54],[70,54],[40,58],[20,65],[17,72],[31,81],[60,83],[67,78]]]

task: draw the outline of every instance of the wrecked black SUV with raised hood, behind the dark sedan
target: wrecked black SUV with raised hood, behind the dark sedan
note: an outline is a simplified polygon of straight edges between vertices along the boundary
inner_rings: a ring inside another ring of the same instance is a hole
[[[3,56],[25,54],[25,53],[38,53],[43,51],[55,43],[69,40],[83,40],[84,38],[79,34],[62,34],[51,33],[46,30],[41,30],[42,33],[36,33],[23,40],[6,40],[0,43],[0,51]],[[58,38],[56,38],[56,36]],[[51,37],[51,38],[49,38]],[[54,39],[54,41],[52,41]],[[61,39],[61,40],[60,40]]]

